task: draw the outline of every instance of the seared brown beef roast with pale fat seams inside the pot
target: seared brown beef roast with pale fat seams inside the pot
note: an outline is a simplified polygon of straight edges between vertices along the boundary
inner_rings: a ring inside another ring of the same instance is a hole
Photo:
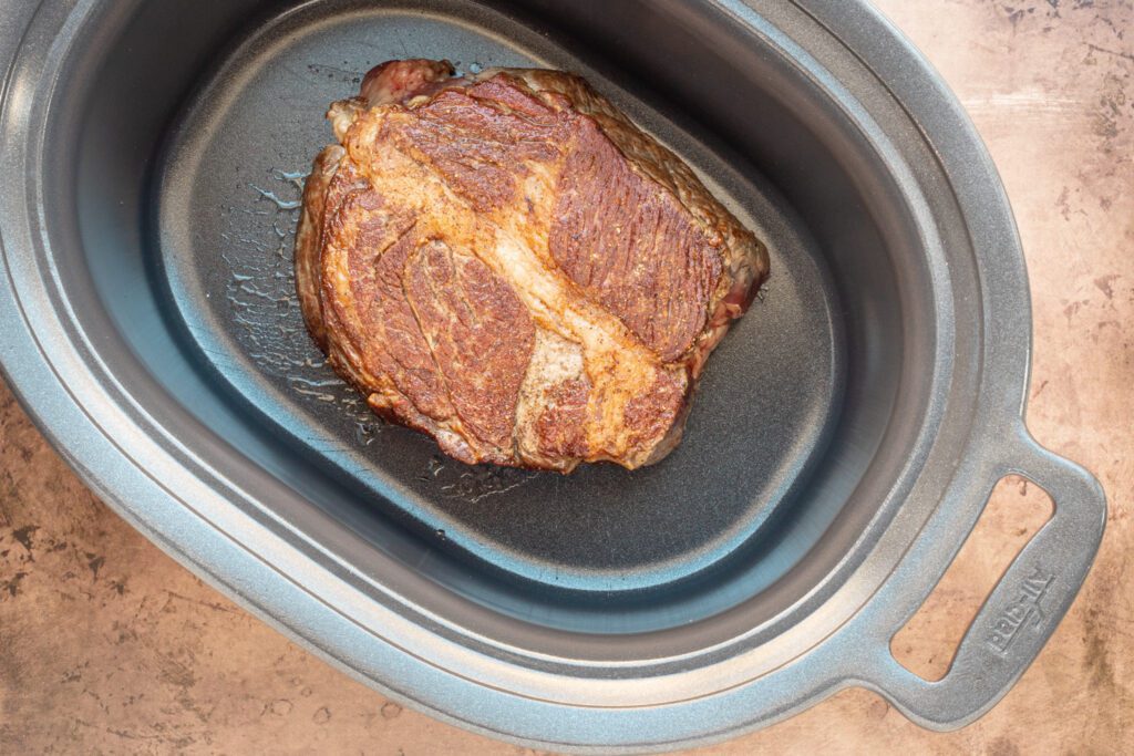
[[[464,462],[650,465],[765,247],[577,76],[382,63],[328,112],[296,238],[311,335]]]

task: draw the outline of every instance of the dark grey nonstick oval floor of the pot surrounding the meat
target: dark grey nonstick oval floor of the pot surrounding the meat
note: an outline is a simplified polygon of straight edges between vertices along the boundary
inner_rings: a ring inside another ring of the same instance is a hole
[[[584,75],[769,245],[771,280],[710,359],[685,438],[661,464],[583,466],[569,476],[463,465],[374,417],[311,342],[291,260],[303,177],[332,138],[323,114],[357,93],[371,66],[407,57],[448,58],[472,73],[531,66]],[[790,509],[839,405],[836,295],[784,201],[753,165],[714,144],[695,112],[661,112],[567,49],[471,5],[423,14],[320,3],[272,19],[232,50],[189,99],[160,163],[150,213],[154,274],[170,294],[166,316],[234,401],[342,481],[359,506],[315,501],[336,517],[363,533],[371,518],[399,518],[479,569],[591,600],[638,589],[632,601],[648,602],[643,588],[775,547],[771,516]],[[811,525],[816,532],[822,523]],[[747,591],[788,566],[765,563]],[[718,596],[696,612],[739,597]]]

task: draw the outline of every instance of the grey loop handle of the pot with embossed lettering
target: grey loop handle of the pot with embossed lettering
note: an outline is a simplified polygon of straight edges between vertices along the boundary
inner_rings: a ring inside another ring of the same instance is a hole
[[[887,638],[870,687],[922,727],[968,724],[1012,688],[1067,612],[1102,538],[1106,496],[1090,473],[1043,449],[1023,428],[1005,451],[1000,477],[1033,481],[1050,494],[1055,513],[989,594],[945,678],[930,682],[906,670]]]

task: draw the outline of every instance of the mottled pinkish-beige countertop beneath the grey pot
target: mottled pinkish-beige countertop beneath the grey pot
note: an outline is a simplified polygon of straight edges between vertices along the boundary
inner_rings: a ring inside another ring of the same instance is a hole
[[[1119,753],[1134,742],[1134,3],[879,5],[943,74],[1000,169],[1035,311],[1029,424],[1099,476],[1108,530],[1051,643],[978,723],[926,732],[847,690],[697,753]],[[993,504],[983,547],[899,638],[909,664],[942,668],[934,642],[958,637],[974,586],[1044,499],[1015,479]],[[0,753],[254,750],[525,751],[404,711],[203,585],[92,495],[0,385]]]

